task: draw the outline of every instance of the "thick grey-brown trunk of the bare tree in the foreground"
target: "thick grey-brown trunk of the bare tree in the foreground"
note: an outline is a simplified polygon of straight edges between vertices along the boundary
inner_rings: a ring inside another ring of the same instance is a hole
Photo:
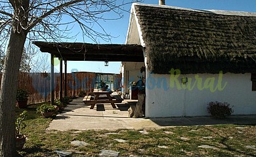
[[[18,85],[18,71],[26,33],[12,26],[11,36],[5,56],[5,65],[0,90],[0,156],[16,156],[15,143],[15,101]]]

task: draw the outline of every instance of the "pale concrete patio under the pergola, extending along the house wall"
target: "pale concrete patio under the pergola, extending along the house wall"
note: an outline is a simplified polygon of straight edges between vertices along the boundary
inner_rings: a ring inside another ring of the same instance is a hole
[[[125,100],[113,109],[110,104],[97,104],[95,109],[85,105],[82,97],[74,99],[62,114],[58,114],[47,130],[117,130],[164,128],[173,126],[198,126],[213,124],[256,124],[256,115],[230,116],[224,120],[211,116],[176,118],[129,118],[129,104],[135,100]]]

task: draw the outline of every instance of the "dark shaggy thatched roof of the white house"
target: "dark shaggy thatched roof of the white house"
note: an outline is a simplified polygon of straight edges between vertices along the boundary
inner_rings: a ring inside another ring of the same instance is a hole
[[[255,13],[134,7],[153,73],[256,73]]]

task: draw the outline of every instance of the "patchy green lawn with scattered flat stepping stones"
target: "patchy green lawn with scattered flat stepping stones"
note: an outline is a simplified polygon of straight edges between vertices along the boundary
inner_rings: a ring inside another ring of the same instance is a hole
[[[36,107],[26,109],[28,139],[19,152],[22,156],[58,156],[55,149],[73,152],[71,156],[99,156],[102,149],[117,151],[119,156],[256,156],[256,126],[177,126],[146,130],[147,134],[139,130],[47,131],[51,118],[41,117]],[[70,144],[74,140],[89,145],[75,147]],[[202,145],[213,148],[198,147]]]

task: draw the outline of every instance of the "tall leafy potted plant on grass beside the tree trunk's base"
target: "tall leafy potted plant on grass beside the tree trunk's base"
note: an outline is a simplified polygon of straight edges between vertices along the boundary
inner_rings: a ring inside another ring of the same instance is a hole
[[[26,124],[24,123],[24,118],[27,116],[27,111],[23,111],[20,113],[20,116],[16,118],[16,127],[15,127],[15,135],[16,135],[16,149],[20,150],[24,147],[26,143],[26,135],[23,134],[23,130],[26,128]]]

